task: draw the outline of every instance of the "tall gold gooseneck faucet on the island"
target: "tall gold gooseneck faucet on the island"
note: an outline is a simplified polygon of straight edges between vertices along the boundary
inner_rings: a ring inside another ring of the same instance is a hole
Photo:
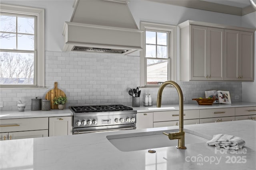
[[[182,94],[182,90],[180,88],[180,86],[174,82],[174,81],[166,81],[164,82],[159,90],[158,90],[158,94],[157,94],[157,101],[156,101],[156,107],[161,107],[161,101],[162,101],[162,92],[165,88],[165,86],[167,86],[168,84],[174,86],[179,94],[179,103],[180,103],[180,112],[179,112],[179,123],[180,123],[180,128],[179,128],[179,132],[174,132],[174,133],[165,133],[164,135],[167,135],[169,137],[170,140],[173,139],[178,139],[178,146],[176,148],[178,149],[187,149],[187,147],[185,147],[185,132],[183,131],[183,94]]]

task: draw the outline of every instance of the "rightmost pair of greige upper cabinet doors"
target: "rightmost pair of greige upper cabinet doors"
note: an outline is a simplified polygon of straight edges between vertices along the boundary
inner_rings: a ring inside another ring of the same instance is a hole
[[[253,38],[252,32],[225,29],[224,80],[254,80]]]

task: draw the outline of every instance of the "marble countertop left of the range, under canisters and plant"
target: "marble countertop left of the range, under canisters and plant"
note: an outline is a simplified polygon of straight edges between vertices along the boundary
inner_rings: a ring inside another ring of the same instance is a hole
[[[73,113],[70,109],[51,109],[49,111],[18,111],[18,110],[10,110],[10,111],[1,111],[0,119],[18,119],[18,118],[32,118],[32,117],[58,117],[58,116],[73,116]]]

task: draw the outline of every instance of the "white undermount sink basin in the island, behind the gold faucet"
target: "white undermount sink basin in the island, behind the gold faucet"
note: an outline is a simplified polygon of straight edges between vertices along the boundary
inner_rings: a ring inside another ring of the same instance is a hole
[[[177,146],[178,139],[170,140],[168,136],[163,134],[163,132],[172,133],[178,131],[178,129],[173,129],[166,131],[128,133],[120,135],[108,135],[106,136],[106,138],[117,149],[128,152],[135,150]],[[190,133],[185,133],[185,146],[186,144],[203,143],[206,141],[208,140],[198,137],[196,135],[192,135]]]

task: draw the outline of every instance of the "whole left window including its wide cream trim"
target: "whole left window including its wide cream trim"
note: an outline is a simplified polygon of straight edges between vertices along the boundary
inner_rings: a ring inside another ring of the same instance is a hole
[[[1,4],[0,86],[44,86],[44,10]]]

